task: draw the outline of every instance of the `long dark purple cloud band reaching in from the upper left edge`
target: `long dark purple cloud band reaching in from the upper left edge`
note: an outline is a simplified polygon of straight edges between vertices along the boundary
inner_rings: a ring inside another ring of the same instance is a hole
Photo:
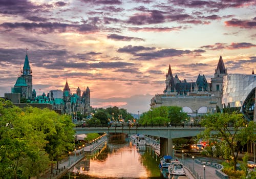
[[[47,34],[52,32],[76,31],[80,33],[90,33],[98,31],[98,27],[90,24],[73,25],[64,23],[3,23],[0,27],[5,29],[24,28],[25,30],[37,30]]]

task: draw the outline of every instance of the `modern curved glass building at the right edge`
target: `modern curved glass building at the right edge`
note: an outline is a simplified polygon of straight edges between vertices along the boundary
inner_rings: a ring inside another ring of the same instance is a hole
[[[255,114],[256,75],[229,74],[223,77],[224,111],[241,111],[249,121]],[[255,119],[254,119],[255,120]]]

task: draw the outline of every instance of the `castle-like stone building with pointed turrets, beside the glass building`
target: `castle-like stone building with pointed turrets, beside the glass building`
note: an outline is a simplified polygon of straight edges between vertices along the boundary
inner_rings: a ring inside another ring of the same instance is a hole
[[[151,99],[151,108],[160,106],[181,106],[191,117],[205,113],[216,113],[217,106],[222,108],[223,77],[227,75],[222,57],[215,70],[214,77],[208,83],[204,75],[198,75],[196,82],[180,81],[173,77],[169,65],[163,94]]]

